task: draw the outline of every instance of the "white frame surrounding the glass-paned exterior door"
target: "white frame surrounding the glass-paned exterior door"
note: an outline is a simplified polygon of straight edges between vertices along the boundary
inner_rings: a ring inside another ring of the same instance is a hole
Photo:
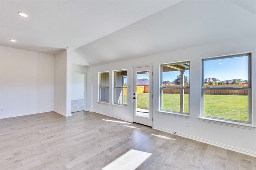
[[[141,68],[141,67],[147,67],[147,66],[152,66],[152,102],[151,102],[151,106],[152,106],[152,127],[154,127],[154,64],[143,64],[143,65],[137,65],[137,66],[132,66],[131,67],[131,105],[132,105],[132,121],[134,121],[134,99],[133,97],[133,92],[134,92],[134,72],[133,69],[134,68]],[[150,103],[149,103],[150,104]],[[136,122],[135,122],[136,123]],[[147,125],[145,125],[147,126]]]

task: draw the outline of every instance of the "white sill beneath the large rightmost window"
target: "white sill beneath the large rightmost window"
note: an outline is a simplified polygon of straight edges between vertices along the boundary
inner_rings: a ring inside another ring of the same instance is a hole
[[[250,130],[255,129],[255,126],[250,125],[250,124],[246,124],[246,123],[239,123],[239,122],[233,122],[233,121],[212,119],[212,118],[208,118],[208,117],[198,117],[198,118],[200,119],[200,121],[205,121],[205,122],[209,122],[209,123],[216,123],[216,124],[220,124],[220,125],[239,127],[239,128],[243,128],[243,129],[250,129]]]

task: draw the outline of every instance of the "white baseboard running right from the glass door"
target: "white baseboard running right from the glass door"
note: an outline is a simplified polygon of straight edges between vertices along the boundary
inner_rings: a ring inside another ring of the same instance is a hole
[[[153,129],[156,129],[156,130],[159,130],[159,131],[164,131],[166,133],[171,133],[171,134],[175,133],[174,131],[169,131],[167,129],[164,129],[164,128],[161,128],[161,127],[156,127],[156,126],[153,127]],[[225,144],[222,144],[222,143],[209,141],[209,140],[202,139],[202,138],[199,138],[199,137],[194,137],[194,136],[191,136],[191,135],[186,135],[184,133],[176,132],[175,135],[185,137],[185,138],[188,138],[188,139],[192,139],[192,140],[195,140],[195,141],[199,141],[199,142],[202,142],[202,143],[207,143],[209,145],[214,145],[216,147],[220,147],[220,148],[224,148],[224,149],[228,149],[228,150],[232,150],[232,151],[235,151],[235,152],[239,152],[239,153],[242,153],[242,154],[247,154],[247,155],[256,157],[256,152],[252,152],[250,150],[245,150],[245,149],[240,149],[240,148],[237,148],[237,147],[232,147],[232,146],[225,145]]]

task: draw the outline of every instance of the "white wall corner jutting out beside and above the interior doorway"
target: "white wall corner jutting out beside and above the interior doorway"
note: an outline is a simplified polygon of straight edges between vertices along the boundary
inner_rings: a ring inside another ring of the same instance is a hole
[[[86,71],[85,65],[88,63],[70,49],[65,49],[55,55],[54,111],[64,116],[72,115],[72,71],[84,72]]]

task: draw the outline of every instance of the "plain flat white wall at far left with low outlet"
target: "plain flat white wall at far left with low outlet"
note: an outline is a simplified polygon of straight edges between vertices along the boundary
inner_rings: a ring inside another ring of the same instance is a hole
[[[0,118],[54,110],[54,56],[1,46]]]

